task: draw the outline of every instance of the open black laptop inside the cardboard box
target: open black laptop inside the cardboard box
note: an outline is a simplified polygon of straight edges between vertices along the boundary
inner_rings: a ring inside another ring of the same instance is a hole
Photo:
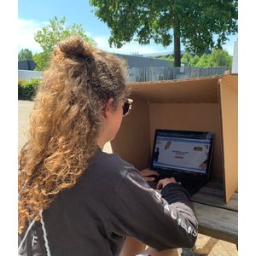
[[[194,195],[207,183],[212,160],[214,134],[209,131],[156,130],[150,169],[159,172],[155,181],[175,177]]]

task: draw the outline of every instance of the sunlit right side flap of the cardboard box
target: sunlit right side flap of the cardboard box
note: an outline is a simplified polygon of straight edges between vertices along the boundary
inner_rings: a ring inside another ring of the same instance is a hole
[[[219,116],[222,136],[224,200],[238,187],[238,76],[218,79]]]

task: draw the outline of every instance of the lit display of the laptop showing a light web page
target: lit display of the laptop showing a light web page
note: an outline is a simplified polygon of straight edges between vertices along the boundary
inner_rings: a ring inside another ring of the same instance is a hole
[[[207,172],[211,139],[157,136],[152,164],[155,168]]]

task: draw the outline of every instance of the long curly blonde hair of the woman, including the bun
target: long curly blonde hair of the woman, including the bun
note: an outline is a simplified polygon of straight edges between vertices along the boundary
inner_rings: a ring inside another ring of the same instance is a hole
[[[108,99],[117,106],[129,94],[125,77],[125,61],[81,38],[55,48],[19,156],[19,233],[86,171],[96,154],[102,109]]]

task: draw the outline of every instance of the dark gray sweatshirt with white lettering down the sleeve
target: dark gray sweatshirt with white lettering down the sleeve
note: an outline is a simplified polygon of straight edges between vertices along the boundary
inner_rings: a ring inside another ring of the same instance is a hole
[[[161,194],[118,154],[98,151],[72,189],[19,236],[19,255],[119,255],[125,236],[156,250],[193,247],[198,223],[189,194],[170,183]]]

